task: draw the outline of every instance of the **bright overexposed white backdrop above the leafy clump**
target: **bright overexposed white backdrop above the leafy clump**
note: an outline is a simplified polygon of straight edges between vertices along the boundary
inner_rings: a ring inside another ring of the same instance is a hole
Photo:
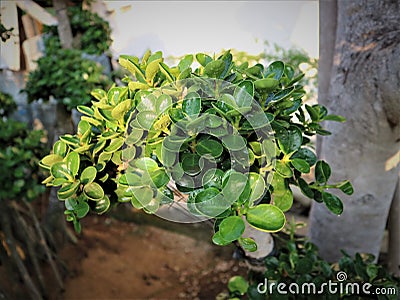
[[[115,55],[167,56],[235,48],[263,51],[263,41],[318,56],[318,1],[105,1],[113,9]]]

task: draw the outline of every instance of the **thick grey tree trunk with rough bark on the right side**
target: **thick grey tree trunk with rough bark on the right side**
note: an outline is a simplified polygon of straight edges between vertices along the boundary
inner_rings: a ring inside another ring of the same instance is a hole
[[[386,170],[385,162],[400,141],[400,3],[342,0],[337,8],[326,104],[347,122],[326,124],[332,136],[323,139],[320,153],[332,166],[332,182],[348,178],[355,192],[337,192],[345,205],[339,217],[323,204],[312,206],[310,237],[329,261],[340,249],[378,256],[399,172]]]

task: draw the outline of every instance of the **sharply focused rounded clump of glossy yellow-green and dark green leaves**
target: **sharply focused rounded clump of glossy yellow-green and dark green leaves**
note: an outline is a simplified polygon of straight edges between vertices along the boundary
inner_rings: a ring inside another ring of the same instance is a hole
[[[161,52],[119,61],[132,74],[127,86],[94,90],[92,105],[78,106],[78,132],[61,136],[41,160],[50,171],[44,183],[60,187],[77,231],[89,211],[102,214],[121,202],[148,213],[176,204],[197,220],[215,220],[215,244],[237,240],[254,251],[254,240],[242,237],[245,222],[281,230],[291,185],[342,212],[326,190],[351,194],[352,186],[328,182],[330,167],[309,137],[329,134],[320,122],[344,119],[321,105],[303,106],[303,74],[294,67],[237,65],[229,51],[186,55],[173,67]],[[315,180],[307,182],[302,176],[312,167]],[[183,203],[174,201],[174,189],[187,194]]]

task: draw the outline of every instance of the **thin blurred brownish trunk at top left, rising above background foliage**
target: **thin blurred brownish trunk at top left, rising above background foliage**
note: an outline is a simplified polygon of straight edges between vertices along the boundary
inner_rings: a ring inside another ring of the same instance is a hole
[[[57,29],[61,47],[64,49],[71,49],[73,37],[67,14],[67,2],[66,0],[53,0],[53,7],[58,19]]]

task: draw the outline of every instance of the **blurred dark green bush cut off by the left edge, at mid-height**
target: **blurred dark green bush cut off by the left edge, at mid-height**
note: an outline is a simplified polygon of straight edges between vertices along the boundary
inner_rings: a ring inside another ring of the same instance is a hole
[[[7,118],[16,108],[10,95],[0,92],[0,106],[0,201],[34,200],[44,190],[38,167],[45,153],[43,132]]]

